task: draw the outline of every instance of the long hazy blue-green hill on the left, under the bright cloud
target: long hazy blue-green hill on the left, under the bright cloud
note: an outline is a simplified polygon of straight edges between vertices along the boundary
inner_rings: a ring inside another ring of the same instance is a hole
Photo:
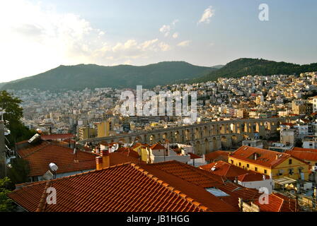
[[[161,62],[147,66],[98,66],[79,64],[59,66],[36,76],[1,84],[1,90],[81,90],[84,88],[152,88],[207,75],[212,67],[194,66],[184,61]]]

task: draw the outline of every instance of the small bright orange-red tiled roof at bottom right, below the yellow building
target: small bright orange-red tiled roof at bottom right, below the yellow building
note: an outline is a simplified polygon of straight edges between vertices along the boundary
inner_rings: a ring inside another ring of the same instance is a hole
[[[273,193],[270,194],[269,205],[260,204],[258,199],[255,200],[255,204],[260,207],[261,212],[295,212],[296,209],[296,200],[293,198],[288,198],[282,194]]]

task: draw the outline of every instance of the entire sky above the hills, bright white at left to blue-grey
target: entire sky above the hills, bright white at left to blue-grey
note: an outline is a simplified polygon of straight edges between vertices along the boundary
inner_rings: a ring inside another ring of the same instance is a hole
[[[310,64],[316,10],[316,0],[1,0],[0,83],[59,65]]]

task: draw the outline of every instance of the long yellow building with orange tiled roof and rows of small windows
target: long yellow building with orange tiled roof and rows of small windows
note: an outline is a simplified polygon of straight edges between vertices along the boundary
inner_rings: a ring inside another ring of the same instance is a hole
[[[228,162],[243,169],[260,172],[272,179],[289,177],[309,179],[309,164],[287,153],[242,146],[229,154]]]

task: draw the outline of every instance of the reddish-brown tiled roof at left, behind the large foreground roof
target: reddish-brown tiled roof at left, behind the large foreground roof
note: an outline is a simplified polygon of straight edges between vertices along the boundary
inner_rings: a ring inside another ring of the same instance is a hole
[[[18,155],[28,160],[30,177],[45,174],[51,162],[59,167],[58,173],[96,169],[96,155],[78,150],[76,155],[78,162],[75,162],[74,149],[47,141],[18,150]]]

